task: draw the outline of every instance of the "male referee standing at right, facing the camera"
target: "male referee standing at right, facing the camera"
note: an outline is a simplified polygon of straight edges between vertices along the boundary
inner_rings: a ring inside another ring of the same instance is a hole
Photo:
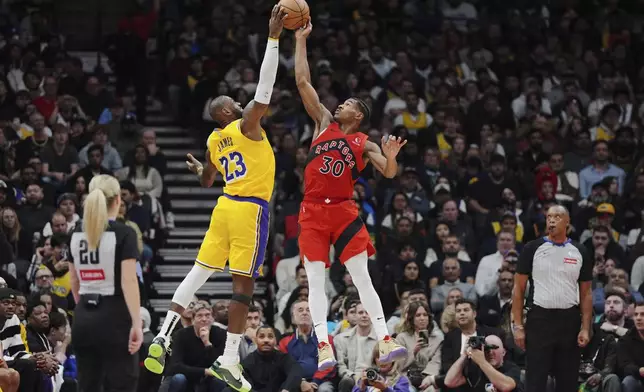
[[[569,224],[565,207],[550,207],[548,236],[529,242],[519,256],[512,331],[517,345],[526,350],[527,392],[545,391],[549,374],[557,392],[577,391],[580,348],[590,339],[593,263],[583,246],[566,237]]]

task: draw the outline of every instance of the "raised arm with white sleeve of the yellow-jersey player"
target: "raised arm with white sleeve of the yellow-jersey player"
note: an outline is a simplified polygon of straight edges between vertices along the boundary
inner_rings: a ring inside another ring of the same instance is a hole
[[[279,65],[279,38],[284,27],[285,10],[279,5],[273,7],[271,19],[268,22],[268,42],[266,53],[259,70],[259,82],[255,90],[255,98],[244,108],[241,121],[241,131],[253,140],[262,140],[260,121],[268,109],[273,94],[273,85],[277,78]]]

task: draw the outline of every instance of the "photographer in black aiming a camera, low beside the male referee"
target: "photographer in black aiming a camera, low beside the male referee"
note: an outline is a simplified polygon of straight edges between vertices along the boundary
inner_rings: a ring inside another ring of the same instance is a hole
[[[512,362],[504,361],[505,349],[498,336],[489,335],[483,340],[472,336],[468,347],[454,362],[445,376],[445,386],[460,388],[460,391],[522,390],[521,370]]]

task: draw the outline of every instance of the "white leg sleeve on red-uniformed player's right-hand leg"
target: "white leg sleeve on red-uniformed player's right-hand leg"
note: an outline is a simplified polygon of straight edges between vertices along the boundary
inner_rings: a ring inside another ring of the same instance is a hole
[[[382,310],[380,297],[369,276],[368,262],[367,251],[364,251],[347,260],[344,266],[347,267],[347,271],[351,274],[351,280],[353,280],[353,284],[358,289],[362,306],[371,317],[371,323],[376,331],[378,340],[382,340],[389,335],[389,331],[387,330],[387,321],[385,320],[385,312]],[[310,290],[309,296],[311,295]]]

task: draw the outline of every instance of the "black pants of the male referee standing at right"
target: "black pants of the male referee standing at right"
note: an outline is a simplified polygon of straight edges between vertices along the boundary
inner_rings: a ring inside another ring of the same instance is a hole
[[[577,335],[581,328],[578,307],[544,309],[534,306],[526,320],[526,391],[546,390],[553,375],[557,392],[576,392],[581,350]]]

